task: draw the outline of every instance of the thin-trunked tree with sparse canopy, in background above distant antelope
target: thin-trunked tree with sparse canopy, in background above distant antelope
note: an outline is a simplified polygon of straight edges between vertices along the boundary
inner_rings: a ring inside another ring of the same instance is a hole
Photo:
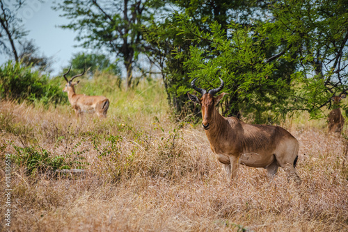
[[[65,0],[61,9],[72,22],[61,26],[79,31],[80,46],[104,49],[122,58],[127,70],[127,87],[132,85],[132,72],[139,53],[144,51],[141,27],[154,15],[148,1],[141,0]]]

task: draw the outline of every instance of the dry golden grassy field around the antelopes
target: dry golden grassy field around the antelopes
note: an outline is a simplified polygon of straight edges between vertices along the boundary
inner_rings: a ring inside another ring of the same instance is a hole
[[[91,86],[77,92],[100,94]],[[347,146],[326,135],[324,119],[282,125],[300,143],[301,185],[283,169],[271,181],[242,165],[230,183],[203,129],[173,119],[161,83],[104,92],[102,120],[76,119],[68,105],[0,102],[3,190],[5,154],[14,155],[10,231],[348,231]],[[52,175],[49,162],[86,174]]]

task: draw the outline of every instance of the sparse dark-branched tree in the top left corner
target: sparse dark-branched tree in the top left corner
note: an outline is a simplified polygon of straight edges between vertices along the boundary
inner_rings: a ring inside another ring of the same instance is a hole
[[[22,19],[16,17],[17,12],[25,5],[25,0],[0,0],[0,47],[4,53],[12,55],[15,62],[19,62],[16,41],[28,34],[22,26]]]

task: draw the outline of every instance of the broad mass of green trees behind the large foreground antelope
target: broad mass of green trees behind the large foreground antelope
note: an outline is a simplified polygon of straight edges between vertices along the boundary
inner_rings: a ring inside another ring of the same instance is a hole
[[[230,93],[221,102],[223,115],[251,115],[256,123],[272,123],[294,110],[323,117],[332,94],[348,90],[347,1],[175,6],[177,12],[149,26],[145,36],[177,113],[198,113],[185,105],[196,77],[201,88],[211,89],[222,76],[223,91]]]

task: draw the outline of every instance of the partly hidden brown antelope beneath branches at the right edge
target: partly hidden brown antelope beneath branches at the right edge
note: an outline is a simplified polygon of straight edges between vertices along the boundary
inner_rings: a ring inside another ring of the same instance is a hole
[[[340,101],[346,97],[345,94],[340,94],[338,96],[335,96],[333,94],[333,97],[331,99],[333,100],[333,108],[329,113],[329,133],[333,134],[340,134],[342,132],[342,128],[345,125],[345,118],[342,116],[341,109],[340,109]]]

